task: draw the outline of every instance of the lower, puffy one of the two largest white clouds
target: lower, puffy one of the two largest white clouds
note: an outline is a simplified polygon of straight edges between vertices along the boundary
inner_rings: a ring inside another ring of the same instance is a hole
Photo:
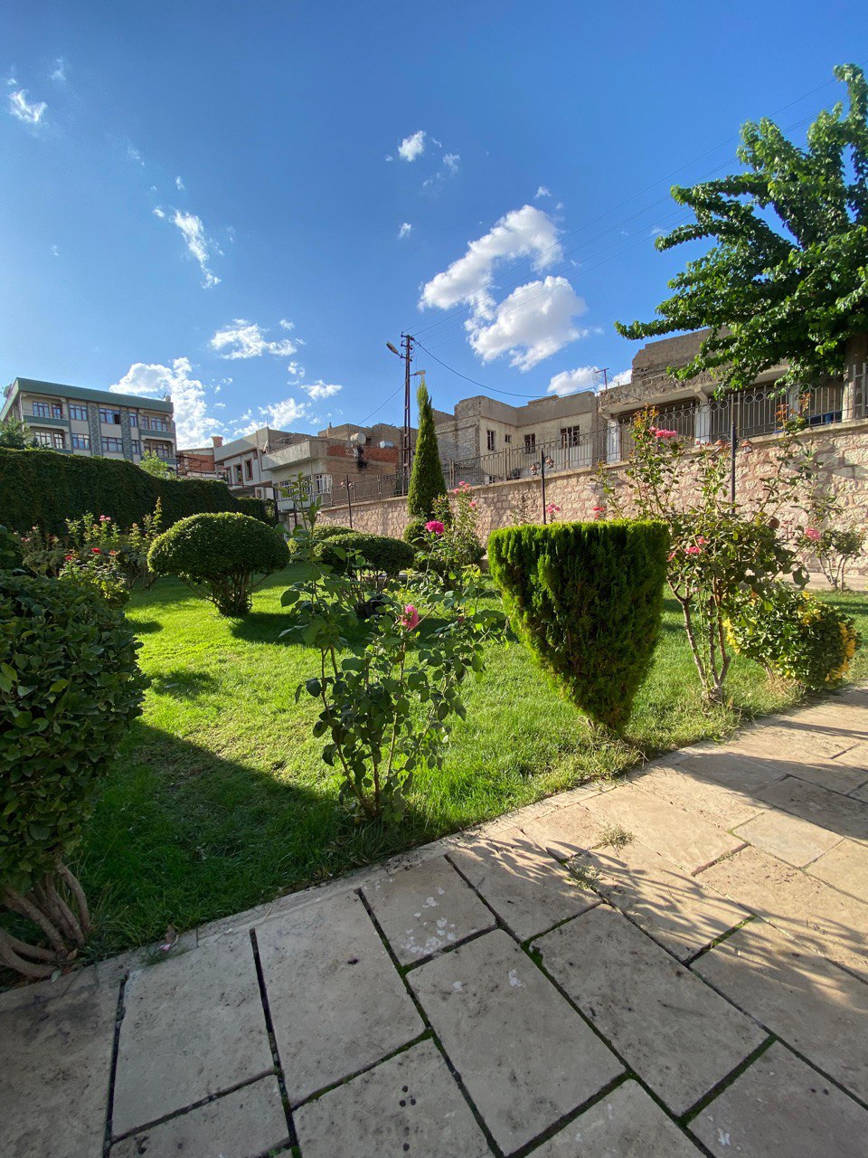
[[[491,323],[477,316],[465,325],[483,361],[508,353],[510,366],[528,371],[587,335],[573,322],[586,309],[566,278],[547,277],[513,290],[496,307]]]

